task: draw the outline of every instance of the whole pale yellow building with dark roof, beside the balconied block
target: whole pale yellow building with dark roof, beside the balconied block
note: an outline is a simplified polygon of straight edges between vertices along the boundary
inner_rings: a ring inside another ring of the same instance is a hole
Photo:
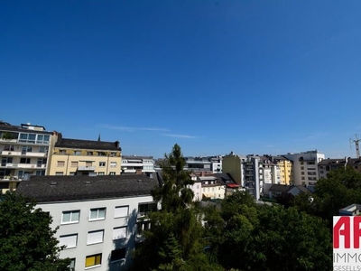
[[[122,149],[119,141],[62,138],[51,152],[50,175],[119,175]]]

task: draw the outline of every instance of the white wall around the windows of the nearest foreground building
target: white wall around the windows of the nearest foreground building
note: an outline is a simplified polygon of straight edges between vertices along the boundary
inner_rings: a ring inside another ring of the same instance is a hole
[[[39,203],[37,207],[50,212],[53,219],[51,228],[60,227],[56,233],[56,238],[78,235],[75,248],[65,248],[60,252],[60,257],[75,258],[75,270],[85,270],[87,256],[101,254],[101,264],[91,267],[91,270],[113,271],[125,270],[125,267],[131,263],[132,252],[137,240],[137,216],[138,204],[153,202],[152,196],[140,196],[122,199],[108,199],[98,201],[73,201],[73,202],[50,202]],[[115,218],[115,208],[117,206],[128,206],[128,215]],[[90,209],[106,208],[106,218],[104,220],[89,220]],[[79,210],[79,222],[62,223],[63,211]],[[115,228],[125,227],[125,238],[113,240],[113,231]],[[104,229],[104,238],[102,242],[87,245],[88,232]],[[125,249],[125,259],[111,263],[110,256],[112,250],[118,248]],[[89,268],[89,267],[88,267]],[[88,270],[87,268],[87,270]]]

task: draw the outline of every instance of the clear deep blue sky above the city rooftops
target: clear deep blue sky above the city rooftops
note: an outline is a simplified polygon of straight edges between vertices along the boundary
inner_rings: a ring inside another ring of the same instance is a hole
[[[124,154],[355,156],[361,1],[1,1],[0,119]]]

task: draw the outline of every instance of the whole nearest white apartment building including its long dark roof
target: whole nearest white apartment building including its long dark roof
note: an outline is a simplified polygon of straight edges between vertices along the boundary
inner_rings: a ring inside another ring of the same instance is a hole
[[[125,270],[132,249],[150,227],[155,210],[151,190],[158,181],[145,175],[42,176],[21,182],[17,192],[32,196],[49,212],[56,238],[66,246],[75,270]]]

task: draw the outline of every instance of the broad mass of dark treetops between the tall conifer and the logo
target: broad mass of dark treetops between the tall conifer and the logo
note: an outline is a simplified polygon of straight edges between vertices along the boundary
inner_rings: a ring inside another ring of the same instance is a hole
[[[246,193],[232,197],[205,217],[206,229],[215,234],[212,247],[227,270],[331,270],[331,235],[323,220],[295,208],[256,206]]]

